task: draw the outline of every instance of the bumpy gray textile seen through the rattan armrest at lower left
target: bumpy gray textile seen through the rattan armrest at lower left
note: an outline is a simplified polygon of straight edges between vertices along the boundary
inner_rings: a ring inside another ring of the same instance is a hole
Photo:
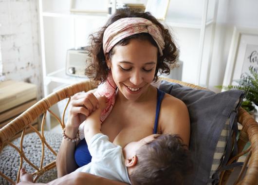
[[[53,148],[54,151],[57,152],[62,141],[62,134],[53,133],[51,131],[44,131],[44,136],[51,148]],[[14,140],[12,143],[19,148],[19,142],[20,138]],[[36,133],[29,133],[24,136],[23,150],[25,156],[39,168],[41,159],[41,142]],[[55,158],[56,156],[47,147],[45,147],[45,158],[43,166],[54,161]],[[0,159],[0,171],[16,182],[18,167],[20,163],[20,157],[18,155],[18,152],[14,148],[7,145],[1,151]],[[23,160],[23,166],[30,173],[35,171],[35,169],[32,166],[30,166],[25,160]],[[37,183],[48,183],[56,178],[57,171],[56,168],[54,168],[50,171],[47,171],[46,173],[44,173],[44,175],[39,177]],[[9,184],[10,183],[8,183],[5,179],[3,179],[0,176],[0,185]]]

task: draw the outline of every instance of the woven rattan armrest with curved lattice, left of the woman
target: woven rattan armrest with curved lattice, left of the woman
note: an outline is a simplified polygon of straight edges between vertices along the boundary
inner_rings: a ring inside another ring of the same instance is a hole
[[[17,176],[17,181],[16,183],[19,182],[19,171],[20,168],[22,167],[22,162],[25,160],[27,163],[29,163],[31,166],[35,168],[35,172],[33,175],[36,175],[34,180],[36,181],[40,175],[42,175],[44,172],[52,169],[55,167],[55,161],[51,162],[50,164],[47,164],[46,166],[42,166],[43,164],[43,158],[44,158],[44,148],[47,147],[49,148],[53,154],[56,155],[56,152],[51,148],[51,146],[48,145],[44,138],[44,125],[45,125],[45,120],[46,120],[46,113],[49,111],[51,114],[53,114],[57,121],[60,123],[61,127],[64,128],[64,121],[63,119],[60,120],[52,111],[50,111],[50,108],[55,105],[57,102],[65,99],[65,98],[70,98],[72,95],[74,95],[77,92],[87,92],[89,90],[92,90],[95,88],[94,85],[92,85],[92,81],[86,80],[83,82],[79,82],[76,84],[73,84],[71,86],[67,86],[63,89],[60,89],[56,92],[53,92],[49,94],[47,97],[39,100],[36,104],[34,104],[32,107],[30,107],[28,110],[24,111],[22,114],[20,114],[16,119],[8,123],[6,126],[4,126],[2,129],[0,129],[0,152],[2,148],[5,145],[9,145],[17,150],[20,156],[20,166],[18,169],[18,176]],[[41,116],[43,114],[43,119],[41,123],[41,133],[32,127],[30,124],[37,119],[37,117]],[[64,116],[63,116],[64,117]],[[24,137],[24,133],[26,128],[29,126],[30,129],[35,131],[38,135],[38,137],[41,140],[42,143],[42,157],[41,157],[41,162],[40,166],[35,166],[33,163],[31,163],[26,156],[24,155],[23,149],[22,149],[22,141]],[[20,139],[20,148],[17,146],[14,146],[10,141],[15,137],[15,135],[20,132],[22,132],[21,139]],[[2,172],[0,172],[0,175],[5,178],[7,181],[9,181],[12,184],[15,184],[13,180],[5,176]]]

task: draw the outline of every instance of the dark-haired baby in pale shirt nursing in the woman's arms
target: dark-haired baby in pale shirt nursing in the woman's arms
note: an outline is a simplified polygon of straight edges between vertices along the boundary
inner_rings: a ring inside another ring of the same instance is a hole
[[[101,133],[101,110],[105,97],[100,97],[100,108],[87,117],[85,139],[92,162],[75,170],[91,173],[132,185],[181,185],[192,168],[187,147],[178,135],[152,134],[124,148],[114,145]],[[22,169],[21,181],[32,182],[31,174]]]

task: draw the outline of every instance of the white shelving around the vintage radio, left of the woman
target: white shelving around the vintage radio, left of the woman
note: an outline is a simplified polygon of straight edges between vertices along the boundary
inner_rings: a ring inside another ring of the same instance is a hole
[[[38,0],[44,96],[58,86],[87,79],[65,73],[66,51],[85,46],[87,34],[83,32],[87,29],[93,32],[109,18],[107,13],[72,13],[70,5],[70,0]],[[81,22],[89,24],[80,31]],[[58,113],[57,106],[52,111]],[[46,129],[51,129],[50,114],[47,114]]]

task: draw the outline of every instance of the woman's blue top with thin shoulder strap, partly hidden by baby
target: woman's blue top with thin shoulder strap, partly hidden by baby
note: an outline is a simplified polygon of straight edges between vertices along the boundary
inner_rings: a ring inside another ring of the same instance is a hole
[[[156,116],[155,116],[155,123],[154,123],[154,129],[153,129],[153,134],[157,133],[158,129],[158,119],[159,119],[159,113],[160,113],[160,105],[161,101],[165,95],[165,92],[158,90],[157,93],[157,106],[156,106]],[[89,152],[86,140],[83,139],[79,142],[79,144],[76,146],[75,151],[74,151],[74,158],[75,162],[79,167],[87,165],[92,161],[92,156]]]

